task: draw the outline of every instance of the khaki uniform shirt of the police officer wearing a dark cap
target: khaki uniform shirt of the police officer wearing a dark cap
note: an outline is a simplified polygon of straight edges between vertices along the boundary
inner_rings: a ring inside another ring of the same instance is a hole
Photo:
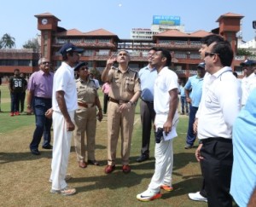
[[[98,96],[96,83],[88,78],[87,82],[82,79],[76,80],[76,87],[78,92],[78,102],[93,104],[96,101],[96,96]]]

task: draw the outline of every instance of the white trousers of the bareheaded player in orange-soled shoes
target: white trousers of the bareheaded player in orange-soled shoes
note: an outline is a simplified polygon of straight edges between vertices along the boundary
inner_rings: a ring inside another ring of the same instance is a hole
[[[155,143],[154,158],[154,175],[148,185],[148,190],[159,193],[161,185],[172,186],[172,140],[161,140],[160,143]]]

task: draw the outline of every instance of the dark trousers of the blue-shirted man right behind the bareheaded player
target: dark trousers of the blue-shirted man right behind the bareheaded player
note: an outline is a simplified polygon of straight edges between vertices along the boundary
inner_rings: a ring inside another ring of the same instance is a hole
[[[141,122],[143,127],[143,143],[142,154],[149,154],[150,135],[152,124],[154,123],[154,103],[148,101],[141,101]]]

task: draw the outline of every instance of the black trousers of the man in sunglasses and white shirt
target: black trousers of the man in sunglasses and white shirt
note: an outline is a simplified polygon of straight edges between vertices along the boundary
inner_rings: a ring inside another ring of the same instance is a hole
[[[232,140],[221,137],[202,140],[201,170],[204,177],[208,206],[232,206],[230,195],[233,164]]]

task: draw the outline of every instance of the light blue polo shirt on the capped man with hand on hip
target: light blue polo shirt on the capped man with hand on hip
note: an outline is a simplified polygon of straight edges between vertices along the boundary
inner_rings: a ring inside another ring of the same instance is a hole
[[[190,99],[192,100],[192,106],[198,107],[201,101],[202,83],[204,78],[199,78],[197,75],[189,77],[188,82],[184,86],[185,89],[192,89],[190,93]]]

